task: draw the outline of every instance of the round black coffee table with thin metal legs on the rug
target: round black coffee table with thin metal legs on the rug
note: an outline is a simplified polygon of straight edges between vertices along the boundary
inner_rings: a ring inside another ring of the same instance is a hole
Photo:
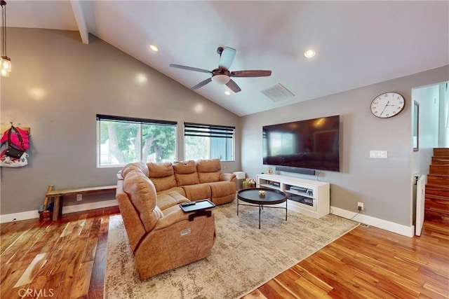
[[[259,191],[265,191],[265,195],[260,195]],[[248,202],[250,204],[240,204],[239,200],[243,202]],[[260,212],[264,206],[269,206],[272,204],[286,203],[286,207],[269,207],[276,209],[286,209],[286,221],[287,221],[287,195],[281,190],[270,189],[270,188],[247,188],[240,190],[237,193],[237,216],[239,216],[239,205],[243,206],[258,206],[259,207],[259,229],[260,229]]]

